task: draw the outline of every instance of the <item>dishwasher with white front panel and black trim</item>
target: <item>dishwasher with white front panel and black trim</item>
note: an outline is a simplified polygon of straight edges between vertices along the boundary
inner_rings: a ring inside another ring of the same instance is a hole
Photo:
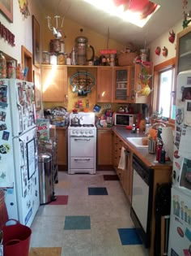
[[[153,169],[133,155],[133,186],[130,216],[146,248],[151,245]]]

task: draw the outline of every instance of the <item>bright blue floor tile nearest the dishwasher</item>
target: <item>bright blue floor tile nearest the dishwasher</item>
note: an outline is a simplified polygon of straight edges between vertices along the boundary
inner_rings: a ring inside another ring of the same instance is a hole
[[[135,228],[118,228],[122,245],[142,245]]]

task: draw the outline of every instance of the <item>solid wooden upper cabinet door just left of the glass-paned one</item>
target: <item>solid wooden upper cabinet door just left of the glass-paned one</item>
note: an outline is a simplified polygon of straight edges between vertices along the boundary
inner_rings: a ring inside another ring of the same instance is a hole
[[[112,102],[112,67],[98,67],[97,102]]]

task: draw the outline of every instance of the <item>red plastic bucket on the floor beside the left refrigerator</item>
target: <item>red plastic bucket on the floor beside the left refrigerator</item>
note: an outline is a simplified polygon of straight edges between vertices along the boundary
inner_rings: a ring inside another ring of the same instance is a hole
[[[15,224],[7,226],[7,223],[14,220]],[[3,231],[4,256],[28,256],[31,241],[31,228],[19,223],[18,220],[9,219]]]

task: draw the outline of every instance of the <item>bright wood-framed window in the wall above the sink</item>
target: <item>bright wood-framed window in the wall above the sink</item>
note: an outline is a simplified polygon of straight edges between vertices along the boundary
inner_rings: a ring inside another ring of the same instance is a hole
[[[153,111],[163,120],[174,123],[175,119],[175,58],[154,67]]]

